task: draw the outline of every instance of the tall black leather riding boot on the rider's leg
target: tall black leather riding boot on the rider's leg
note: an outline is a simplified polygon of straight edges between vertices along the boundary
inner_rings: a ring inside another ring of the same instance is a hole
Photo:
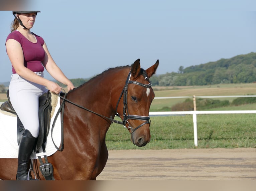
[[[24,130],[24,134],[21,137],[19,144],[18,170],[16,180],[27,180],[29,158],[34,149],[36,139],[37,138],[33,137],[29,130]],[[29,179],[31,179],[31,177],[29,177]]]

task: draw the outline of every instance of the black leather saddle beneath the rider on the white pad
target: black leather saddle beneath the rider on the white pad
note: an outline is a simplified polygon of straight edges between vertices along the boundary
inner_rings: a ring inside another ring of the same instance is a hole
[[[13,114],[17,113],[15,112],[14,108],[12,107],[10,97],[9,97],[9,90],[7,90],[7,98],[8,100],[5,101],[1,105],[1,110],[7,111]],[[51,93],[50,91],[46,92],[45,94],[41,95],[39,97],[39,135],[37,139],[37,144],[36,144],[36,150],[37,151],[43,143],[45,143],[47,136],[49,134],[49,129],[50,129],[50,114],[51,114]],[[24,132],[25,128],[20,121],[18,115],[17,115],[17,142],[19,144],[21,136]]]

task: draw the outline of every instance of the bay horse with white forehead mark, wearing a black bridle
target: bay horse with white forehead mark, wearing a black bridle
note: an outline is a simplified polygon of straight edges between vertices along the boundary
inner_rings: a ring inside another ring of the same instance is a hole
[[[149,107],[154,92],[149,78],[158,64],[157,60],[143,70],[138,59],[131,66],[108,69],[67,93],[70,102],[66,101],[64,108],[65,147],[48,156],[55,180],[96,180],[108,159],[106,133],[117,113],[133,144],[141,147],[150,141]],[[38,173],[38,159],[34,161],[37,178],[44,180]],[[0,158],[0,179],[15,180],[16,171],[16,158]]]

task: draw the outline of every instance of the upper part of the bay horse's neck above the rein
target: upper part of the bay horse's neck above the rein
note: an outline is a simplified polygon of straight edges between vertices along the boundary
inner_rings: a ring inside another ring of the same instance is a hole
[[[128,67],[105,71],[71,92],[68,98],[94,112],[114,117],[129,71]]]

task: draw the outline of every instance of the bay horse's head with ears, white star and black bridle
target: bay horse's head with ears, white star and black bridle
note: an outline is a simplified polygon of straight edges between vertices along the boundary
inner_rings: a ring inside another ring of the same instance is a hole
[[[139,147],[145,146],[151,137],[149,108],[155,95],[149,78],[155,74],[158,64],[157,60],[153,66],[143,70],[140,68],[140,59],[136,60],[131,66],[123,90],[122,120],[131,133],[131,141]]]

